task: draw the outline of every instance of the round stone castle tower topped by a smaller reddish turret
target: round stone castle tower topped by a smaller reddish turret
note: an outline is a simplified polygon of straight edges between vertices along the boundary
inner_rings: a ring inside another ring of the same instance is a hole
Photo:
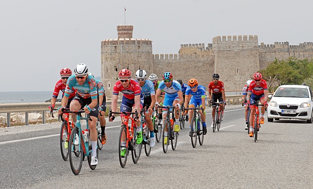
[[[133,29],[132,25],[118,25],[118,38],[101,42],[101,80],[108,97],[112,96],[120,70],[129,69],[133,79],[138,69],[152,73],[152,41],[134,39]]]

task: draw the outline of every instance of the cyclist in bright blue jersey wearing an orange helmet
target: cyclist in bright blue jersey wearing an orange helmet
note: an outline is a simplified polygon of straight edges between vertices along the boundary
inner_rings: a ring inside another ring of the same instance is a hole
[[[196,79],[190,79],[188,81],[188,88],[186,90],[186,96],[185,96],[185,103],[184,103],[184,107],[187,108],[188,106],[190,108],[193,107],[197,107],[199,105],[199,107],[203,107],[203,112],[202,110],[200,110],[200,114],[201,114],[201,120],[203,123],[203,135],[207,134],[207,125],[205,123],[205,105],[206,105],[206,99],[207,99],[207,95],[205,93],[205,87],[202,85],[198,85],[198,81]],[[189,105],[188,105],[188,101],[190,99]],[[202,106],[202,104],[204,104]],[[185,110],[184,113],[187,113],[187,111]],[[193,116],[193,110],[189,111],[189,116],[192,117]],[[191,119],[189,120],[189,124],[191,127]],[[198,130],[199,131],[199,130]]]

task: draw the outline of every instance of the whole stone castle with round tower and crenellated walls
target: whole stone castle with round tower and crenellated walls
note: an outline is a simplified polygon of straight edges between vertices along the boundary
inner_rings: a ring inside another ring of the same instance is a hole
[[[152,54],[152,41],[133,38],[132,25],[117,26],[118,38],[101,42],[101,78],[108,96],[121,69],[144,69],[162,80],[164,72],[171,72],[174,79],[187,83],[196,78],[200,85],[208,86],[213,73],[220,74],[225,91],[241,91],[253,74],[267,67],[275,58],[293,56],[313,58],[313,43],[289,45],[288,42],[261,43],[258,36],[214,37],[213,43],[180,45],[178,54]]]

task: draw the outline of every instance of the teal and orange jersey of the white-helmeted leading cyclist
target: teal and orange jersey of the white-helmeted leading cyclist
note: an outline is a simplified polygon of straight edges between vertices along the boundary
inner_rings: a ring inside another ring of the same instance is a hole
[[[88,75],[83,85],[78,84],[75,75],[70,76],[66,83],[64,95],[69,97],[72,92],[71,89],[75,90],[76,96],[79,95],[85,99],[90,97],[91,99],[96,99],[98,96],[95,80],[90,75]]]

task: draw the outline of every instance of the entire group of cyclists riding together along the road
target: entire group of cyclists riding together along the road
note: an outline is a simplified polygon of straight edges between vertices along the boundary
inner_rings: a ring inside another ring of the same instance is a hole
[[[104,112],[106,110],[106,97],[103,84],[99,80],[95,80],[93,74],[88,72],[88,67],[86,64],[78,64],[74,69],[74,75],[69,68],[63,68],[60,71],[61,79],[56,83],[53,96],[51,98],[51,105],[49,110],[53,110],[56,102],[56,98],[61,91],[62,100],[61,106],[58,107],[58,114],[61,115],[62,111],[66,108],[69,108],[71,111],[83,109],[87,114],[89,114],[92,121],[89,120],[89,134],[92,149],[96,149],[97,145],[97,130],[96,130],[96,120],[99,119],[101,126],[101,143],[106,143],[106,134],[105,134],[105,119]],[[246,86],[243,88],[243,97],[242,100],[245,101],[246,112],[246,127],[247,127],[247,110],[248,106],[251,108],[250,117],[254,115],[255,105],[258,100],[262,104],[267,105],[268,93],[267,93],[267,83],[262,79],[261,73],[255,73],[253,75],[254,81],[247,81]],[[181,111],[181,106],[183,104],[184,108],[193,108],[199,107],[203,108],[199,110],[200,117],[203,122],[203,134],[207,134],[206,127],[206,116],[205,116],[205,107],[206,107],[206,88],[202,85],[199,85],[197,79],[190,79],[187,84],[184,84],[181,79],[174,80],[173,74],[171,72],[165,72],[162,75],[162,81],[158,81],[156,74],[151,74],[147,76],[145,70],[139,69],[135,72],[135,80],[132,79],[132,72],[128,69],[120,70],[118,73],[118,81],[113,87],[111,110],[116,112],[117,110],[117,100],[118,95],[123,94],[122,102],[120,106],[120,111],[123,112],[133,112],[136,110],[140,112],[144,108],[145,121],[147,127],[150,131],[150,147],[155,145],[154,137],[154,126],[152,122],[152,117],[154,111],[159,112],[159,119],[166,118],[166,108],[158,108],[158,106],[174,106],[175,110],[175,126],[174,132],[179,132],[179,114]],[[215,73],[212,76],[212,82],[208,85],[209,91],[209,102],[224,102],[219,104],[221,107],[221,120],[224,119],[224,105],[225,102],[225,92],[224,92],[224,83],[219,80],[219,74]],[[214,119],[216,104],[212,103],[212,119]],[[261,124],[264,123],[264,109],[261,110]],[[181,112],[186,116],[186,121],[189,121],[191,125],[191,119],[188,117],[193,116],[193,110],[185,110]],[[115,119],[115,114],[112,113],[108,118],[109,122],[112,122]],[[121,119],[123,122],[123,114],[121,114]],[[72,114],[73,122],[76,121],[75,114]],[[140,117],[134,118],[136,124],[137,135],[136,142],[140,144],[143,140],[142,129],[141,129],[141,120]],[[250,119],[252,122],[253,119]],[[252,126],[252,123],[250,124]],[[213,121],[211,127],[213,128]],[[168,131],[165,128],[164,133],[164,143],[168,142]],[[247,129],[247,128],[245,128]],[[250,129],[253,132],[253,129]],[[65,131],[66,132],[66,131]],[[251,137],[251,132],[249,136]],[[252,133],[253,136],[253,133]],[[124,144],[124,146],[123,146]],[[122,149],[120,154],[122,157],[126,153],[126,142],[122,142]],[[92,150],[91,162],[90,165],[97,165],[97,154],[96,150]]]

